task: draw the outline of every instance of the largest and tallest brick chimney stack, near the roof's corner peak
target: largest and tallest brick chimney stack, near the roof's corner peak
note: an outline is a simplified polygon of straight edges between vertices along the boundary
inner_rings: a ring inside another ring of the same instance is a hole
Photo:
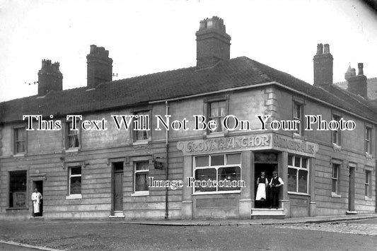
[[[197,68],[213,66],[231,57],[231,36],[224,21],[214,16],[200,21],[197,35]]]

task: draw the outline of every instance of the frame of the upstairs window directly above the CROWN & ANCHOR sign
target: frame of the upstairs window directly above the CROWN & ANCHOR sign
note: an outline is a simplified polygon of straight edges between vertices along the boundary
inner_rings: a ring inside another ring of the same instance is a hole
[[[220,103],[224,102],[225,103],[225,115],[229,115],[229,95],[222,95],[222,96],[215,96],[215,97],[209,97],[209,98],[204,98],[204,117],[206,117],[206,122],[211,120],[211,104],[213,103]],[[219,128],[221,127],[221,124],[216,124],[216,126]],[[225,136],[228,134],[228,131],[224,128],[221,128],[221,132],[211,132],[208,128],[205,130],[205,134],[207,137],[216,137],[216,136]]]

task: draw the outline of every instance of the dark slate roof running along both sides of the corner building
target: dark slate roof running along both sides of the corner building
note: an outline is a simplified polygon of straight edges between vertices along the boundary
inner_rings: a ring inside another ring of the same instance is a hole
[[[237,57],[205,69],[189,67],[101,83],[93,91],[81,87],[51,91],[45,98],[34,95],[6,101],[0,103],[0,123],[21,121],[22,115],[83,114],[271,81],[377,122],[376,112],[367,103],[356,102],[352,95],[340,97],[336,91],[312,86],[247,57]]]

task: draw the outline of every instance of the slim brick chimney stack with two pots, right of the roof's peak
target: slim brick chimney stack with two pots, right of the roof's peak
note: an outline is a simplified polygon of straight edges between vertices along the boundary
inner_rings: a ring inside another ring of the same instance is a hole
[[[330,45],[318,44],[317,54],[313,57],[314,63],[314,86],[332,84],[332,54]]]

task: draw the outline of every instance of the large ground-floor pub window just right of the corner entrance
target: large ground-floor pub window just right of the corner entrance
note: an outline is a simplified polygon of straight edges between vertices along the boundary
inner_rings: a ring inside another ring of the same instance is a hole
[[[288,192],[308,194],[309,159],[300,156],[288,156]]]

